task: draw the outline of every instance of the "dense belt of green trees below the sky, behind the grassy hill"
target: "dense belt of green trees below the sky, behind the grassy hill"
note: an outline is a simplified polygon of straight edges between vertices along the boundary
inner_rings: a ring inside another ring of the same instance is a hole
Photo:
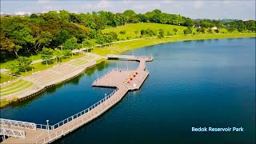
[[[1,60],[19,55],[30,55],[42,48],[70,50],[82,46],[94,46],[118,41],[118,34],[103,34],[108,27],[124,26],[127,23],[156,22],[178,26],[210,28],[217,26],[240,32],[255,31],[255,21],[232,21],[202,19],[194,21],[179,14],[166,14],[153,10],[136,14],[126,10],[122,14],[98,11],[86,14],[69,13],[66,10],[50,11],[30,16],[1,17]]]

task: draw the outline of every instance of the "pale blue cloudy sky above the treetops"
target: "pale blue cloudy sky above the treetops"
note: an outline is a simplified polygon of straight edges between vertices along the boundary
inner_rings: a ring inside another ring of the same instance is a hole
[[[114,13],[132,9],[136,13],[159,9],[170,14],[181,14],[190,18],[233,18],[254,19],[255,1],[136,1],[136,0],[1,0],[1,13],[14,14],[18,11],[42,13],[50,10],[69,10],[70,12],[85,13],[93,10],[107,10]]]

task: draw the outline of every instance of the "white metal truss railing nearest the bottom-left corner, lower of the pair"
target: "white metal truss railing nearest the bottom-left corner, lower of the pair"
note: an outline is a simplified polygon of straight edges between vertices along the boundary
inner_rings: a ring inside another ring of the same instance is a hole
[[[0,135],[6,135],[8,137],[14,138],[23,138],[25,139],[25,132],[23,130],[14,130],[14,129],[7,129],[7,128],[0,128]]]

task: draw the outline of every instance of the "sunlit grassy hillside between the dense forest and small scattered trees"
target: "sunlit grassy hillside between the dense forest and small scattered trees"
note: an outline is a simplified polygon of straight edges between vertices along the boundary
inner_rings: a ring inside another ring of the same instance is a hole
[[[127,37],[130,38],[138,38],[140,36],[141,30],[156,30],[158,32],[159,29],[163,29],[165,31],[165,35],[167,35],[167,31],[170,31],[170,34],[174,35],[174,28],[176,28],[177,35],[182,35],[183,30],[186,29],[186,26],[175,26],[175,25],[166,25],[166,24],[160,24],[160,23],[147,23],[147,22],[142,22],[142,23],[133,23],[133,24],[126,24],[126,26],[118,26],[106,30],[102,30],[103,33],[109,33],[111,31],[114,31],[115,33],[118,34],[118,38],[120,40],[126,39]],[[122,30],[126,30],[126,34],[120,34],[119,32]],[[135,34],[135,31],[138,31],[138,34]],[[196,32],[195,28],[192,28],[192,31]],[[207,30],[206,30],[207,31]],[[227,33],[226,29],[220,29],[219,33]],[[214,34],[214,30],[213,30]]]

